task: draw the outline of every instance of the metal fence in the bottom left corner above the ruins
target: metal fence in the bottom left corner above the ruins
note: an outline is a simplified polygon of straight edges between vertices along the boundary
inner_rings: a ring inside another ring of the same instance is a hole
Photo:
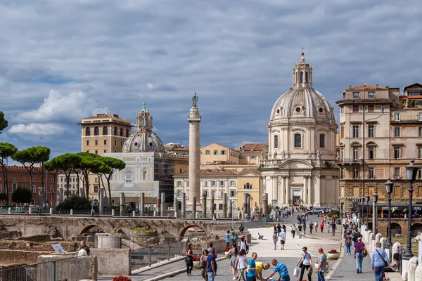
[[[89,279],[91,268],[91,256],[72,256],[0,270],[0,281],[77,281]]]

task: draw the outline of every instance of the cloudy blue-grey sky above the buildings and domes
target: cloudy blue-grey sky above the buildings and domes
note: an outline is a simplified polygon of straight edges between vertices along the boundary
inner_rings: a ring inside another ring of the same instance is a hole
[[[302,47],[336,116],[349,84],[422,82],[421,14],[419,0],[2,0],[0,141],[79,152],[82,117],[135,122],[146,100],[162,141],[187,144],[197,93],[201,145],[265,142]]]

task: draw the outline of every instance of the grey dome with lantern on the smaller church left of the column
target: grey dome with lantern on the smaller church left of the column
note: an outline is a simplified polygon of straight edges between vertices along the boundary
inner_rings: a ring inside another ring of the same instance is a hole
[[[136,117],[136,132],[124,142],[122,152],[164,152],[162,141],[152,129],[153,117],[143,103],[143,110]]]

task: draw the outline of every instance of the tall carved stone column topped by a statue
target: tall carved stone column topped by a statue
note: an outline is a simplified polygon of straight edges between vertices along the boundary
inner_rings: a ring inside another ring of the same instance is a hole
[[[193,197],[196,197],[196,207],[200,208],[200,145],[199,145],[199,123],[200,115],[198,107],[198,96],[192,98],[192,107],[189,112],[189,193],[188,208],[193,209]],[[196,211],[199,211],[198,208]]]

